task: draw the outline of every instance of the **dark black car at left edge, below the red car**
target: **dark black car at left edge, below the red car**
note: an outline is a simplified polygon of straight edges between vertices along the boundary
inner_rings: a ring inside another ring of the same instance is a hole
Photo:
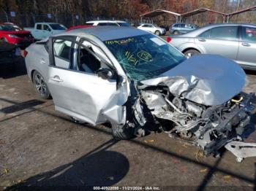
[[[0,71],[2,69],[15,69],[15,62],[20,51],[15,44],[0,42]]]

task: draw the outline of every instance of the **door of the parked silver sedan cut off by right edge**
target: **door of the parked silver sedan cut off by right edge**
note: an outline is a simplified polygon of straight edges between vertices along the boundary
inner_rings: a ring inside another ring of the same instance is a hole
[[[256,27],[242,26],[237,61],[244,67],[256,67]]]

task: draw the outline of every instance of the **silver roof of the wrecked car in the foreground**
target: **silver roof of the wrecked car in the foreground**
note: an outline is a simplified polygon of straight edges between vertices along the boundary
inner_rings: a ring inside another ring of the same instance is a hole
[[[56,34],[56,36],[72,35],[72,36],[96,36],[102,41],[112,39],[123,39],[131,36],[139,36],[148,34],[146,31],[139,30],[134,27],[122,27],[122,26],[97,26],[90,28],[79,28],[67,33]]]

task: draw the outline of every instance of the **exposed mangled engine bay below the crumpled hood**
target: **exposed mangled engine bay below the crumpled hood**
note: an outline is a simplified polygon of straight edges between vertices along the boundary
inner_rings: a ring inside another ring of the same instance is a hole
[[[204,155],[218,155],[229,141],[242,140],[250,115],[255,109],[254,93],[240,93],[217,106],[205,106],[172,95],[167,87],[140,90],[135,104],[135,119],[141,127],[158,124],[170,137],[200,148]]]

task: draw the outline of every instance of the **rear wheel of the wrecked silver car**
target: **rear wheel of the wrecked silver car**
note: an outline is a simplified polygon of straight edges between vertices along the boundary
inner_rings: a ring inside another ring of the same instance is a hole
[[[41,98],[50,98],[50,91],[48,90],[45,79],[38,71],[34,71],[33,73],[33,83],[35,89],[37,90],[37,93],[40,95]]]

